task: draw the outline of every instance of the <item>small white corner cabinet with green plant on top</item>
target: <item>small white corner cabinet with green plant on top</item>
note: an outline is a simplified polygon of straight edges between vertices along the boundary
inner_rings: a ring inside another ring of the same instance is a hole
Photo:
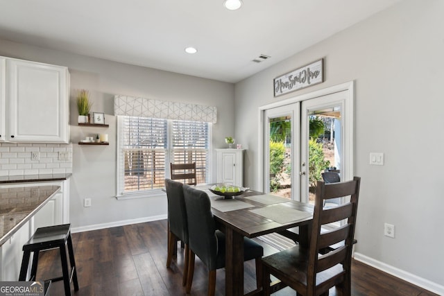
[[[216,149],[217,182],[244,186],[244,149]]]

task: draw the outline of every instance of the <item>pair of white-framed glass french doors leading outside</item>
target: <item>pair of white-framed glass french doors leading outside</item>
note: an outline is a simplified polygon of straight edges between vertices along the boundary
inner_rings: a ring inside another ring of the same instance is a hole
[[[352,87],[265,107],[264,191],[313,202],[323,172],[334,170],[350,180],[352,110]]]

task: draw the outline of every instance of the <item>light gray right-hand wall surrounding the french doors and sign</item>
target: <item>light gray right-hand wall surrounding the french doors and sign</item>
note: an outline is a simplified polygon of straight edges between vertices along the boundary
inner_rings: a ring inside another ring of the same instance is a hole
[[[444,1],[406,0],[237,83],[245,185],[259,189],[258,107],[355,80],[357,257],[444,294]],[[297,34],[294,36],[297,37]],[[273,98],[273,78],[325,58],[325,82]],[[369,153],[384,153],[370,166]],[[395,239],[383,235],[395,225]]]

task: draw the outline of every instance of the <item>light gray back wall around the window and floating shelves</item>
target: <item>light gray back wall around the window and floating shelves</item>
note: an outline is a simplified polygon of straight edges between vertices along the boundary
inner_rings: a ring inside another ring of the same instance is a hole
[[[70,127],[73,166],[70,190],[71,224],[74,229],[119,225],[166,218],[166,198],[117,200],[116,125],[112,114],[114,94],[155,98],[163,101],[196,103],[217,107],[213,125],[213,148],[225,148],[225,136],[234,134],[234,85],[178,73],[136,67],[97,58],[0,40],[0,55],[69,67],[71,73]],[[105,112],[110,127],[80,128],[77,125],[76,90],[88,89],[93,112]],[[80,139],[108,133],[110,146],[79,146]],[[214,159],[216,155],[214,154]],[[216,178],[215,168],[212,177]],[[92,207],[83,207],[91,198]]]

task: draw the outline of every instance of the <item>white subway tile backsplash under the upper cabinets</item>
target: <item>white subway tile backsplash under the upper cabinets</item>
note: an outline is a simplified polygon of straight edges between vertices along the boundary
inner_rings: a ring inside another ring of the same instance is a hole
[[[72,144],[0,143],[0,176],[72,173]],[[69,152],[69,160],[58,153]],[[40,160],[31,160],[38,152]]]

